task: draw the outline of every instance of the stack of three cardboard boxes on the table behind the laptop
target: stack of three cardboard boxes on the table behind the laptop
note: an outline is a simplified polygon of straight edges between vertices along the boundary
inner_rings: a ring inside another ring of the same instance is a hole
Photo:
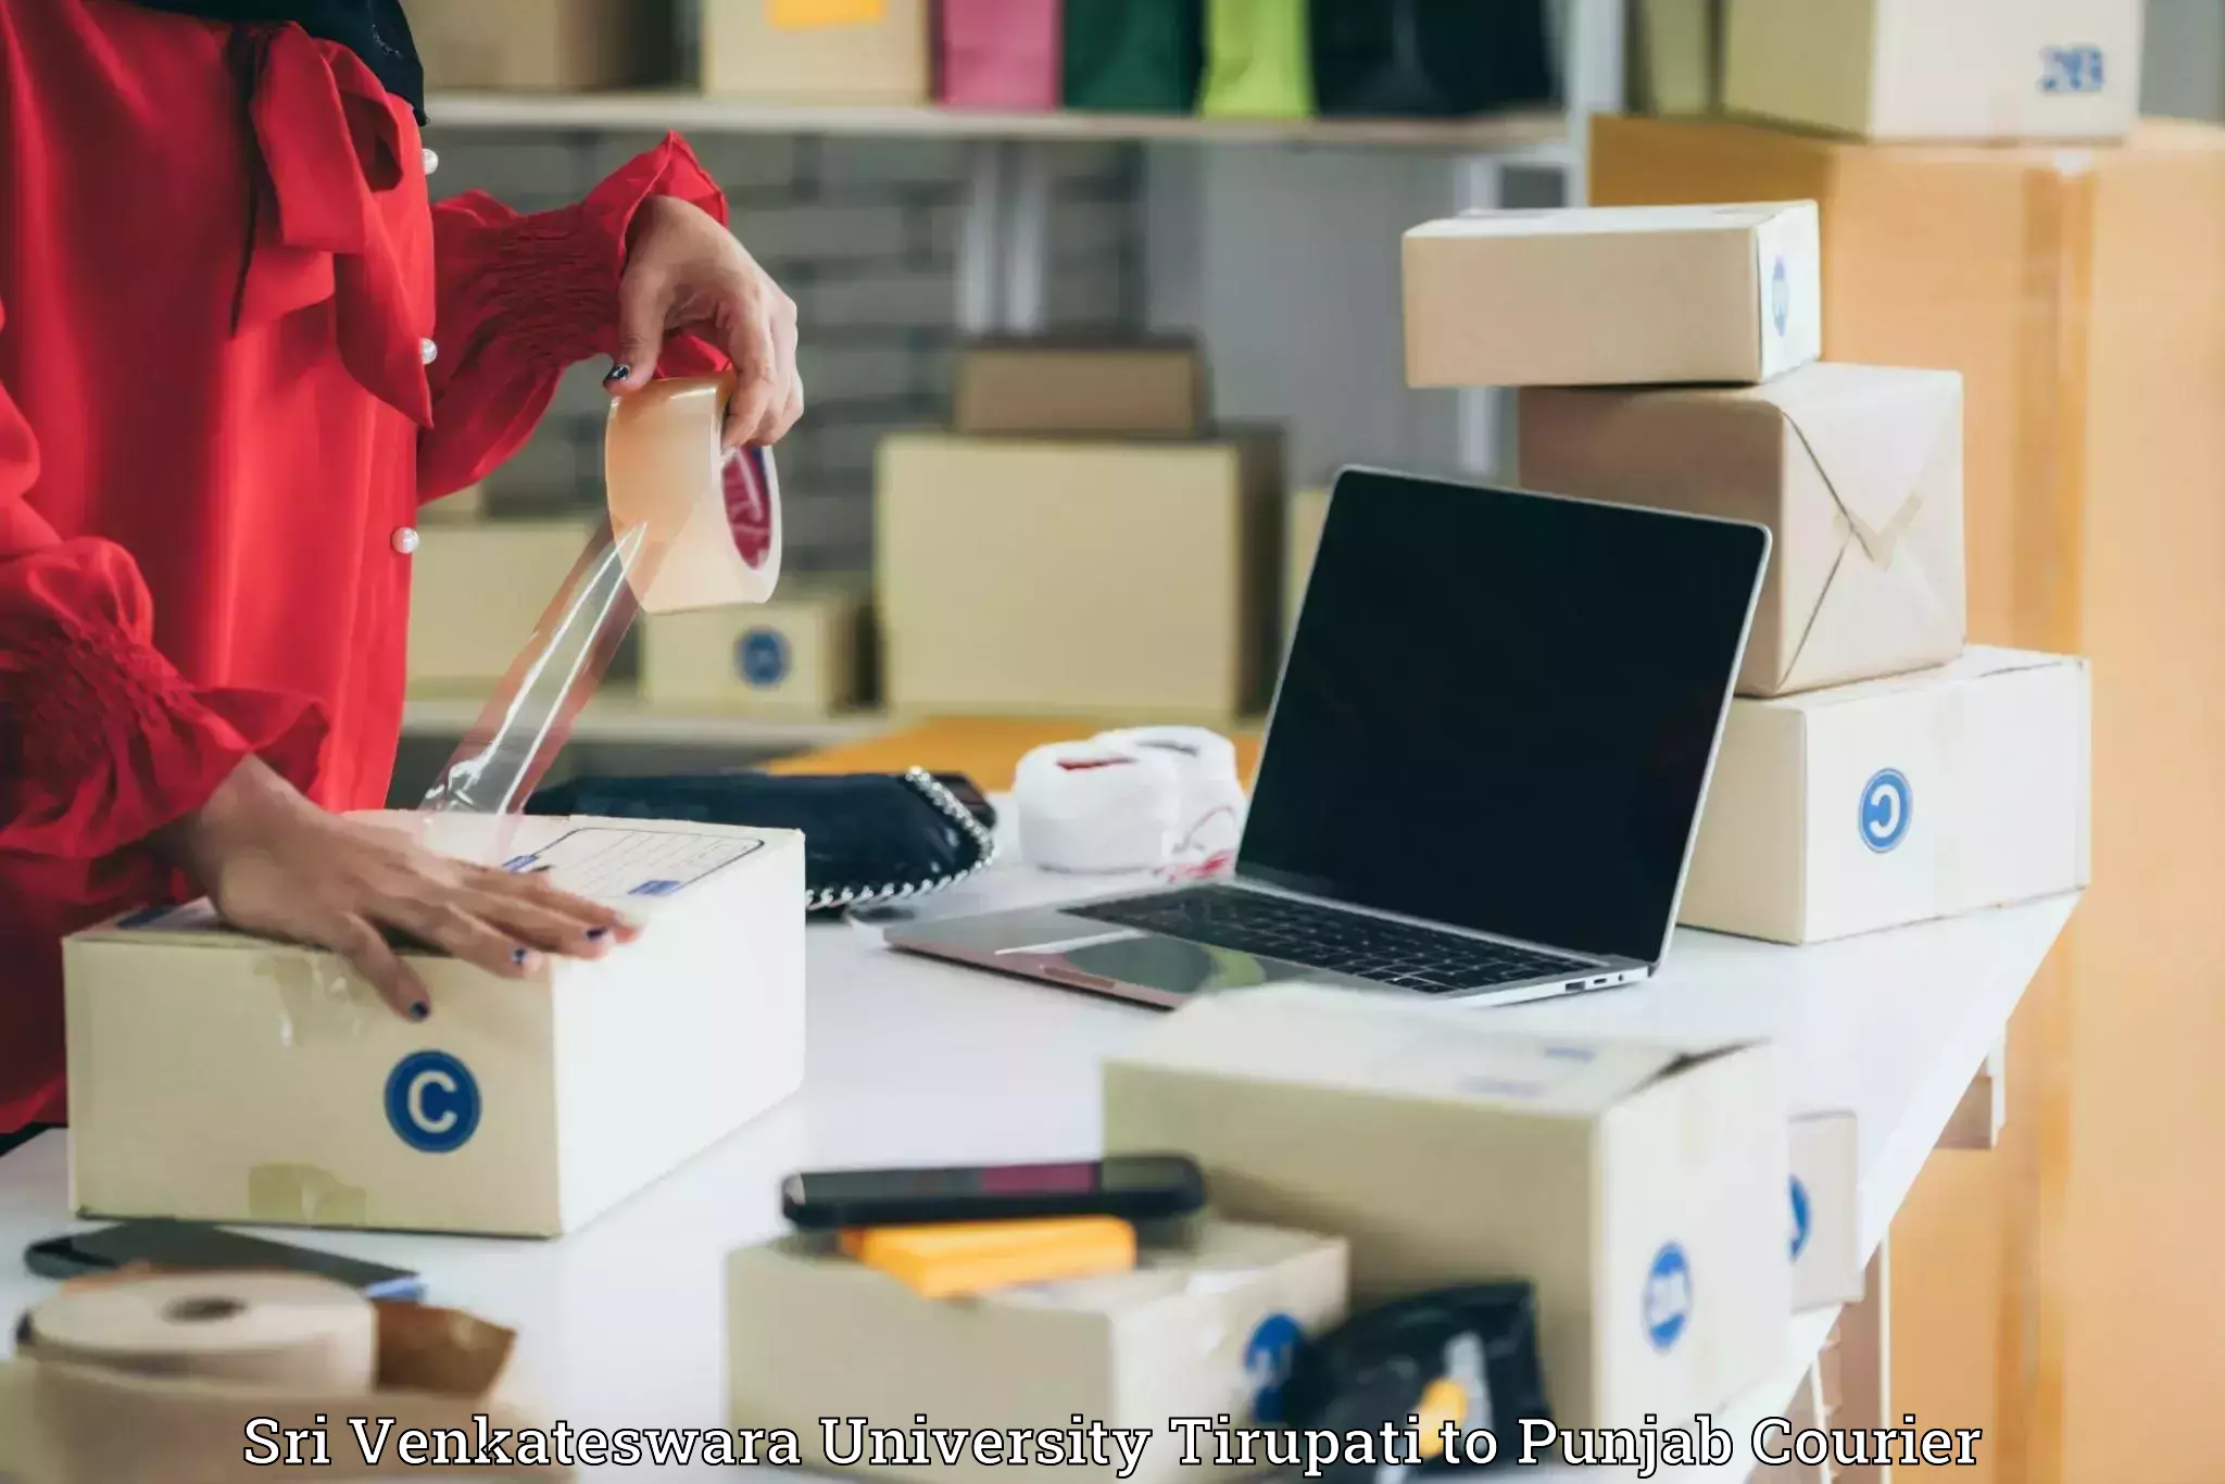
[[[1522,483],[1773,534],[1682,921],[1807,943],[2087,877],[2078,661],[1965,654],[1962,380],[1818,363],[1811,202],[1406,236],[1408,380],[1520,396]]]

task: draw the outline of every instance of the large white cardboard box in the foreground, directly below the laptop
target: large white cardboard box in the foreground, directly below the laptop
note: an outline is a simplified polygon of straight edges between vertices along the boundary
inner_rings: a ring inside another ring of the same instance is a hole
[[[1533,1284],[1562,1426],[1689,1417],[1782,1359],[1769,1046],[1495,1035],[1344,990],[1237,990],[1106,1063],[1104,1139],[1188,1152],[1228,1217],[1342,1233],[1355,1308]]]

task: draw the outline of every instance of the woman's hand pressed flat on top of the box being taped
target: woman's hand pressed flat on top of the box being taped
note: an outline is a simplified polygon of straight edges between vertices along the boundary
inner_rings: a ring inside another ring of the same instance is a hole
[[[505,979],[536,972],[543,954],[599,959],[639,932],[541,877],[454,861],[400,830],[327,814],[256,759],[156,845],[209,892],[225,921],[338,952],[414,1021],[432,1015],[432,999],[387,932]]]

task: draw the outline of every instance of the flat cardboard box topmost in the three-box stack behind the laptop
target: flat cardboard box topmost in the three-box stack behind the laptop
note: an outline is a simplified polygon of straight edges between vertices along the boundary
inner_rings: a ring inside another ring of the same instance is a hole
[[[1760,383],[1822,354],[1816,207],[1471,211],[1406,234],[1406,383]]]

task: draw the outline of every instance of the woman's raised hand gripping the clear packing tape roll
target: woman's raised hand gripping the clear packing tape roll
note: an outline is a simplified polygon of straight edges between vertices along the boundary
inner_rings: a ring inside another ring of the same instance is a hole
[[[779,443],[803,416],[797,378],[797,303],[701,207],[652,196],[634,214],[619,280],[619,363],[603,378],[616,396],[656,376],[665,336],[694,332],[734,363],[725,447]]]

